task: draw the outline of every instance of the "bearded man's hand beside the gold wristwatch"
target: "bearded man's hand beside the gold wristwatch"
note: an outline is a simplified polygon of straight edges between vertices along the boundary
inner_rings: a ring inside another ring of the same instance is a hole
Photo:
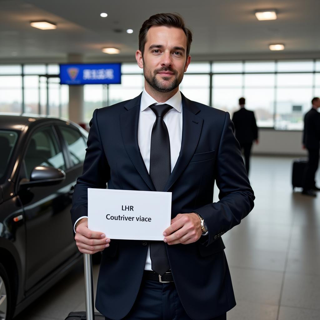
[[[189,244],[202,235],[200,219],[196,213],[179,213],[171,220],[171,226],[164,230],[164,242],[168,244]]]

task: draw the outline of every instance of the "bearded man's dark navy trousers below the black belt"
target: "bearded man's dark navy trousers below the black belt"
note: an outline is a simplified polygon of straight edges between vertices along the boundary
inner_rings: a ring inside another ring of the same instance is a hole
[[[226,314],[208,320],[226,320]],[[106,318],[106,320],[111,320]],[[173,282],[143,279],[138,297],[122,320],[191,320],[186,314]]]

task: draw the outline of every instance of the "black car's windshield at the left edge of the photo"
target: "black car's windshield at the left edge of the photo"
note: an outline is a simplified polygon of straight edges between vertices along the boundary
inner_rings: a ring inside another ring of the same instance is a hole
[[[12,151],[18,139],[18,133],[12,130],[0,130],[0,184],[4,182]]]

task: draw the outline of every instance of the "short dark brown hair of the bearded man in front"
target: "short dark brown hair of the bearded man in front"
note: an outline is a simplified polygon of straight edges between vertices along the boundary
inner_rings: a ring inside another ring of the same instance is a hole
[[[148,20],[143,22],[139,31],[139,50],[144,53],[144,46],[146,44],[146,37],[148,30],[153,26],[165,26],[179,28],[184,31],[187,36],[187,57],[190,52],[192,42],[192,32],[185,26],[185,22],[179,13],[157,13],[151,16]]]

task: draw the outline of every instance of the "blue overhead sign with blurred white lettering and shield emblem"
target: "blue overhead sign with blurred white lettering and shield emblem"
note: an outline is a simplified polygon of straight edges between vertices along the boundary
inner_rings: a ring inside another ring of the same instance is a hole
[[[60,84],[121,84],[121,63],[60,64]]]

